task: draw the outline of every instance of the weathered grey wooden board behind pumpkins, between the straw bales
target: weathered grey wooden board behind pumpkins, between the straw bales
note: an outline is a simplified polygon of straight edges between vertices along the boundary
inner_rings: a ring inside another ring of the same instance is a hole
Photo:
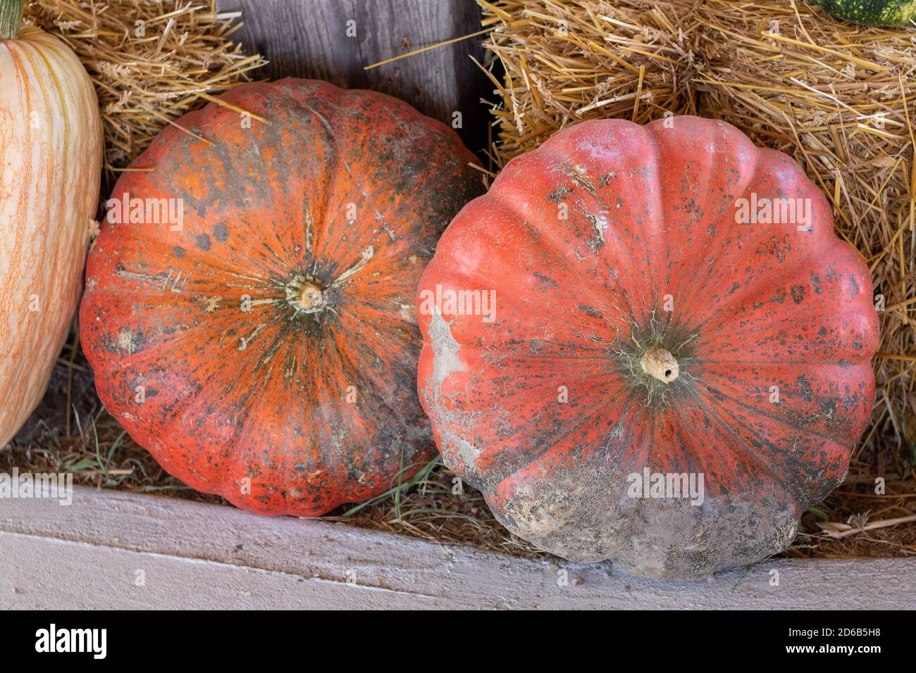
[[[488,115],[479,101],[493,87],[469,58],[483,60],[481,38],[363,70],[480,30],[474,0],[217,0],[216,6],[243,13],[235,37],[267,57],[259,75],[385,92],[450,125],[460,112],[456,130],[465,145],[485,146]]]

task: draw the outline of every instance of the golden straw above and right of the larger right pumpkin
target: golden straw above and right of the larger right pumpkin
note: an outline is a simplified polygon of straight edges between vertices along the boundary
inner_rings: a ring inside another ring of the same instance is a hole
[[[478,2],[506,69],[491,76],[497,165],[585,119],[700,114],[794,157],[821,187],[885,308],[871,423],[790,554],[916,554],[916,27],[856,27],[802,0]]]

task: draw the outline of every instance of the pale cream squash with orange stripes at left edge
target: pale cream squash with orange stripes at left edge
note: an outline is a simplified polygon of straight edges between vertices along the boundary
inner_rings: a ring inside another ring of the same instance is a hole
[[[0,0],[0,447],[38,405],[70,330],[102,172],[89,75],[21,18],[21,0]]]

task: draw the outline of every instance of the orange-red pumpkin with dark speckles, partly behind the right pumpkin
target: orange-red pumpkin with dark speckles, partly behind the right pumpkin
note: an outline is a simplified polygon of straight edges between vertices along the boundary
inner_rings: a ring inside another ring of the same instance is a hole
[[[105,407],[169,472],[260,514],[321,515],[434,450],[414,297],[481,189],[474,157],[380,93],[288,79],[223,100],[118,180],[83,348]]]

